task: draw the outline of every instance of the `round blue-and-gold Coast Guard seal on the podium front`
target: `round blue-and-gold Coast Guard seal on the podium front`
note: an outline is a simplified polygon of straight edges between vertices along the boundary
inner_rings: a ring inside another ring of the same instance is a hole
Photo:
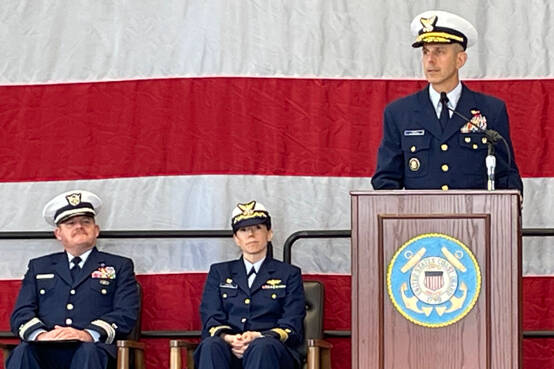
[[[402,316],[424,327],[440,328],[471,311],[481,291],[481,271],[462,242],[426,233],[394,254],[387,270],[387,288]]]

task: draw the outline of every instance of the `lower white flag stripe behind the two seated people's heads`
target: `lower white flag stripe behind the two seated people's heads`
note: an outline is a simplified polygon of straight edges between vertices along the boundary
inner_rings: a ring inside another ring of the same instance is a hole
[[[549,216],[554,179],[524,179],[524,227],[554,227]],[[296,176],[175,176],[90,181],[4,183],[0,192],[1,228],[5,231],[48,230],[42,204],[54,194],[87,188],[99,194],[104,208],[98,222],[105,230],[230,229],[237,202],[256,199],[271,211],[275,255],[300,230],[350,228],[350,191],[369,188],[368,178]],[[25,201],[13,201],[13,199]],[[524,240],[524,273],[554,274],[554,248],[548,238]],[[206,271],[216,261],[238,256],[231,239],[100,240],[108,252],[128,255],[138,273]],[[0,278],[20,278],[29,258],[60,250],[56,241],[2,241]],[[308,273],[349,273],[350,240],[300,240],[293,262]]]

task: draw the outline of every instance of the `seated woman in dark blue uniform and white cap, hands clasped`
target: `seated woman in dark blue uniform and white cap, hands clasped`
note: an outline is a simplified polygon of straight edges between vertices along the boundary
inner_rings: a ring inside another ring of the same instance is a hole
[[[300,368],[306,315],[300,269],[268,254],[273,231],[262,204],[238,204],[231,224],[242,257],[210,267],[196,367]]]

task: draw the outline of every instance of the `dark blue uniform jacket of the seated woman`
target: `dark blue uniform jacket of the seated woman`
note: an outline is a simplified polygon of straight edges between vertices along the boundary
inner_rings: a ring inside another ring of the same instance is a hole
[[[202,337],[259,331],[300,360],[306,315],[300,269],[267,257],[248,288],[241,259],[210,267],[200,306]]]

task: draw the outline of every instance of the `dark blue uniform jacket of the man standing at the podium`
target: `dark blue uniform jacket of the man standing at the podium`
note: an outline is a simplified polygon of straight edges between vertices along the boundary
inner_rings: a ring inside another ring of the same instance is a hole
[[[374,189],[486,189],[483,133],[462,133],[466,121],[453,115],[442,131],[428,88],[389,104],[384,113],[383,139],[377,169],[371,179]],[[487,128],[498,131],[507,141],[496,150],[497,189],[517,189],[523,184],[515,163],[505,104],[492,96],[471,91],[465,85],[456,111],[471,118],[478,109]]]

